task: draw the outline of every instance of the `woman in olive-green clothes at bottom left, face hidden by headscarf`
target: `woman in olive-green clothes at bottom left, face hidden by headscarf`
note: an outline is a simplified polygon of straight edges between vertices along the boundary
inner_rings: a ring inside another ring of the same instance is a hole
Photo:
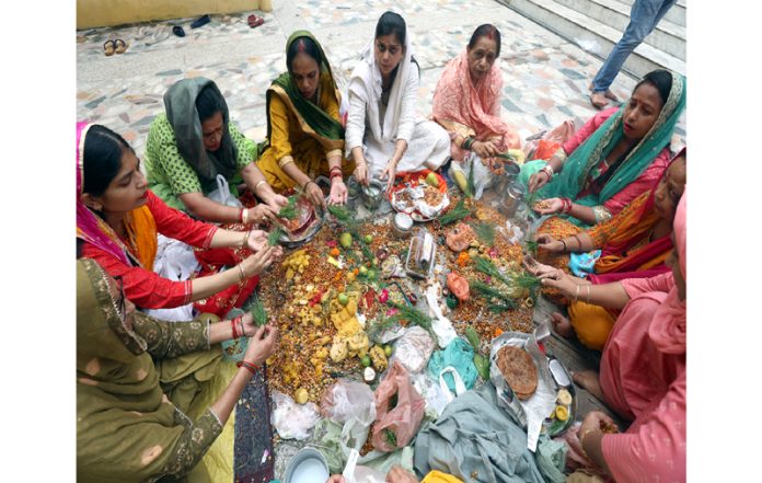
[[[231,338],[233,325],[253,334],[236,371],[217,345]],[[232,481],[232,444],[222,455],[227,472],[205,456],[217,450],[220,459],[216,440],[224,432],[232,440],[232,418],[226,422],[276,341],[277,329],[256,329],[250,317],[215,324],[152,319],[125,299],[119,279],[92,260],[78,261],[77,481]]]

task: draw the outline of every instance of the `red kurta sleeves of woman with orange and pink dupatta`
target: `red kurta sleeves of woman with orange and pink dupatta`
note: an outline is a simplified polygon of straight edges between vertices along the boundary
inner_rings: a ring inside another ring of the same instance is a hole
[[[187,215],[170,208],[150,191],[146,206],[153,215],[159,233],[192,246],[208,248],[211,237],[217,231],[213,225],[195,221]],[[114,254],[91,243],[84,244],[82,256],[95,260],[108,275],[120,276],[125,296],[142,309],[168,309],[184,306],[190,301],[190,280],[175,281],[163,278],[153,273],[150,267],[128,265]]]

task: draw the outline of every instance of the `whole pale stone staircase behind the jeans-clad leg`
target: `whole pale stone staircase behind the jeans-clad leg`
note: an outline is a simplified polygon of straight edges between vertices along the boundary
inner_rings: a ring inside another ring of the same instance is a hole
[[[498,0],[604,60],[630,23],[634,0]],[[622,70],[639,79],[654,69],[685,74],[685,0],[678,0]]]

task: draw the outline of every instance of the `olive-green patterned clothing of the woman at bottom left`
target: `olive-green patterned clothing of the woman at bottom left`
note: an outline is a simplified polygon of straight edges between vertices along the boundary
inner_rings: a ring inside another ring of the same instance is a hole
[[[204,393],[221,352],[181,355],[208,347],[208,325],[125,317],[108,280],[94,261],[78,261],[77,481],[182,481],[222,430],[210,409],[196,417],[184,411]],[[178,357],[158,368],[151,355]]]

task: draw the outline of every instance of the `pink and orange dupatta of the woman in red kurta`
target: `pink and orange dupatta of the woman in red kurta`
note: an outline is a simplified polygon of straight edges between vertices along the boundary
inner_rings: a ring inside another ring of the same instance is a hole
[[[77,238],[116,256],[125,265],[153,268],[157,255],[158,230],[153,215],[143,205],[125,215],[124,223],[135,245],[136,253],[119,239],[116,232],[82,203],[84,194],[84,142],[93,126],[86,122],[77,123]]]

